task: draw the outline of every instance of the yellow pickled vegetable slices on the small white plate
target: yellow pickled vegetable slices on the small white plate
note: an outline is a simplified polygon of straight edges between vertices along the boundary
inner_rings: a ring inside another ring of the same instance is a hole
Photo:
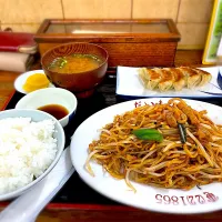
[[[27,92],[32,92],[34,90],[48,88],[49,83],[50,82],[44,74],[36,73],[27,78],[22,88]]]

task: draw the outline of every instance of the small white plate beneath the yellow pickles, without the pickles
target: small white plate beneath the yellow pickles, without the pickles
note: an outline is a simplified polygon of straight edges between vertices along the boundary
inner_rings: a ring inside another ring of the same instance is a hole
[[[22,74],[20,74],[16,81],[14,81],[14,89],[23,94],[28,94],[29,92],[24,91],[22,89],[24,82],[27,81],[27,78],[34,74],[34,73],[42,73],[44,74],[43,70],[33,70],[33,71],[29,71],[29,72],[24,72]],[[49,83],[49,88],[53,88],[54,85],[52,83]]]

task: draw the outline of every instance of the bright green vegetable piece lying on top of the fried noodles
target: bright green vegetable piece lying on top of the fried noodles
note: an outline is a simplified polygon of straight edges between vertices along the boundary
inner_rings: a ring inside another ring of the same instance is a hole
[[[153,140],[157,142],[163,141],[163,135],[155,129],[138,129],[133,130],[132,133],[140,140]]]

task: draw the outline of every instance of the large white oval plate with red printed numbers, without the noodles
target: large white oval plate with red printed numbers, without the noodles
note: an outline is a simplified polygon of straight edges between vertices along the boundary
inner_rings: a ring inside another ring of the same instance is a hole
[[[135,208],[167,213],[201,213],[222,209],[222,183],[202,185],[201,190],[193,188],[189,191],[179,189],[161,189],[132,182],[134,193],[124,180],[115,180],[98,163],[91,161],[95,176],[84,169],[88,158],[88,147],[92,140],[99,139],[98,131],[113,117],[135,108],[135,103],[167,102],[168,98],[132,100],[101,110],[88,118],[74,132],[71,141],[72,163],[82,180],[99,193]],[[215,122],[222,123],[222,108],[205,102],[185,100],[195,110],[208,110],[208,115]]]

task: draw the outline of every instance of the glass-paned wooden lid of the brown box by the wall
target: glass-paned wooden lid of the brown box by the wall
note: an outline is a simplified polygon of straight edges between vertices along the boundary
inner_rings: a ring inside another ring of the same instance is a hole
[[[59,20],[46,19],[34,40],[49,42],[172,42],[180,33],[171,19]]]

